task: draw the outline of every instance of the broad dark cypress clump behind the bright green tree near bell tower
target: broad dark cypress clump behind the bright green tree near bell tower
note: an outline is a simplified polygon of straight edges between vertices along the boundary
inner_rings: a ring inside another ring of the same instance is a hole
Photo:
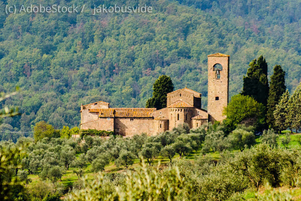
[[[244,76],[244,86],[241,92],[244,96],[251,96],[257,102],[267,106],[268,102],[268,64],[261,55],[249,64],[247,77]]]

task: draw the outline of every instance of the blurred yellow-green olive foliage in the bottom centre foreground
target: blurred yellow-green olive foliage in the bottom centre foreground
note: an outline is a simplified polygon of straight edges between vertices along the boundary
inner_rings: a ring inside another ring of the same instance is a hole
[[[125,179],[119,185],[106,179],[101,172],[93,181],[86,178],[84,188],[74,190],[69,200],[176,200],[184,186],[178,168],[171,167],[162,173],[160,164],[156,168],[148,168],[144,160],[141,161],[135,172],[124,173]]]

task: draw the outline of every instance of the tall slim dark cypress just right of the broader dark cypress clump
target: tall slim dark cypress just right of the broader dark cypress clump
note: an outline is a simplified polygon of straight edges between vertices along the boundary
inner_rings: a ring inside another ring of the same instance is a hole
[[[268,92],[268,105],[267,105],[267,123],[274,130],[279,131],[280,128],[275,125],[274,111],[279,102],[280,97],[285,92],[285,71],[282,70],[280,65],[274,67],[274,73],[271,76],[270,90]],[[283,129],[282,129],[283,130]]]

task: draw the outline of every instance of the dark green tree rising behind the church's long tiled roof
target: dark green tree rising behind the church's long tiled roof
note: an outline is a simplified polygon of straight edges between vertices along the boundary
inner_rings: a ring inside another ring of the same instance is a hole
[[[167,94],[173,91],[173,83],[170,77],[161,75],[153,85],[153,97],[147,100],[146,108],[166,108]]]

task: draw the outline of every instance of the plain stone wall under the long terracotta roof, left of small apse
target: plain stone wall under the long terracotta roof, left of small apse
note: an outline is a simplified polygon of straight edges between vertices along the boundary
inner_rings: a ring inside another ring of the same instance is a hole
[[[141,133],[150,136],[154,134],[154,121],[153,118],[115,118],[114,132],[122,136]]]

